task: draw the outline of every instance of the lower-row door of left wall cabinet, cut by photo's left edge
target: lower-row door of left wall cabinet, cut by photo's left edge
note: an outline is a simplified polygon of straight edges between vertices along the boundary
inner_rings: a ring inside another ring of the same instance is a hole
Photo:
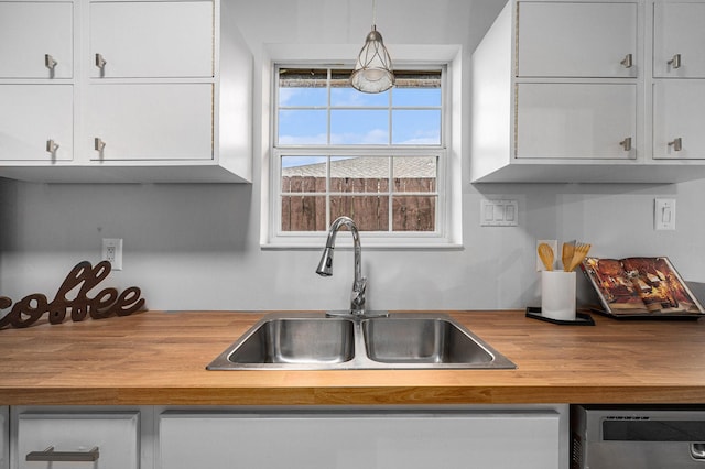
[[[72,85],[0,85],[0,160],[70,160]],[[47,142],[58,145],[51,152]]]

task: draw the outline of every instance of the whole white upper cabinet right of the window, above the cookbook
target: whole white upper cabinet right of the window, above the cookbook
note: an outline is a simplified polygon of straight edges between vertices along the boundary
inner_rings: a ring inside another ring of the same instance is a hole
[[[473,53],[470,179],[705,177],[703,24],[705,0],[509,0]]]

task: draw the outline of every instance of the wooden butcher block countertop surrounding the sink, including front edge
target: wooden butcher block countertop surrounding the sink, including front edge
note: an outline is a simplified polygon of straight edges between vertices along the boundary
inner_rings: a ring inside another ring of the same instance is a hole
[[[264,313],[145,312],[0,330],[0,405],[705,403],[705,319],[446,313],[518,368],[207,371]]]

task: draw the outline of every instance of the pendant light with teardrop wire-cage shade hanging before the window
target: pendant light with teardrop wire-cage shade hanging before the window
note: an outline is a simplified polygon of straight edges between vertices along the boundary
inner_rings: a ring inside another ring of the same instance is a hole
[[[352,88],[362,92],[382,92],[394,86],[392,59],[384,47],[382,35],[377,31],[376,17],[377,10],[372,0],[372,31],[365,39],[355,70],[350,75]]]

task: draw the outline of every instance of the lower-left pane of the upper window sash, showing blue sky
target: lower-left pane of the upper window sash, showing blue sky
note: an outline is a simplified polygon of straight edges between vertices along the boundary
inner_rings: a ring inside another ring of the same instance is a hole
[[[280,110],[280,145],[325,145],[327,128],[325,110]]]

